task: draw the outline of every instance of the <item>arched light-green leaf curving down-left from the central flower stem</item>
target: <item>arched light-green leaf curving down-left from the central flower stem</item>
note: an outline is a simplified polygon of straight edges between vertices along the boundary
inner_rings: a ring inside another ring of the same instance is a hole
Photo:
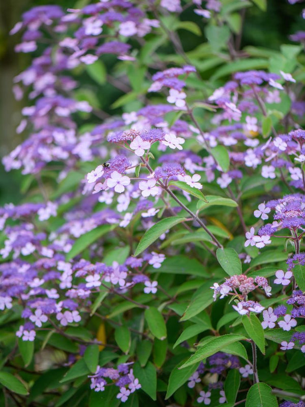
[[[178,223],[185,222],[186,218],[181,218],[179,216],[172,216],[170,218],[165,218],[160,220],[160,222],[156,223],[154,226],[151,226],[144,235],[142,236],[134,256],[138,256],[142,251],[147,249],[148,246],[153,244],[162,234],[166,232],[166,230],[170,229],[171,227],[177,225]]]

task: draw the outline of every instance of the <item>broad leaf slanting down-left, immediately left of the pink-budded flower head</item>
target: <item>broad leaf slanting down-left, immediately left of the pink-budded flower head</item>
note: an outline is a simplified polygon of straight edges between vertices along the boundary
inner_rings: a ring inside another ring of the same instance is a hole
[[[218,280],[207,281],[198,288],[191,298],[190,304],[180,318],[180,321],[187,321],[193,316],[199,314],[199,312],[203,311],[213,302],[212,290],[210,289],[210,286],[217,281]]]

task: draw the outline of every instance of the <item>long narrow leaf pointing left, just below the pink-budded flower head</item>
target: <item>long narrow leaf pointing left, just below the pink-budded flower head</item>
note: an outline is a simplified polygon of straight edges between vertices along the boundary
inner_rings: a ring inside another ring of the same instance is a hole
[[[193,365],[194,363],[200,362],[203,359],[208,358],[211,355],[222,351],[226,345],[238,342],[239,340],[245,340],[246,337],[243,335],[223,335],[211,338],[204,346],[201,346],[182,366],[181,368]]]

